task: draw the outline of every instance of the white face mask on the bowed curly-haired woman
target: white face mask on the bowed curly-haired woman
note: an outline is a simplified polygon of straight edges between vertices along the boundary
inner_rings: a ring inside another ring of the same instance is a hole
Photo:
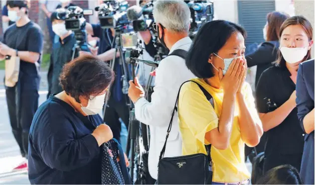
[[[98,96],[90,95],[88,105],[86,107],[82,106],[81,109],[86,115],[98,114],[104,106],[106,93]]]

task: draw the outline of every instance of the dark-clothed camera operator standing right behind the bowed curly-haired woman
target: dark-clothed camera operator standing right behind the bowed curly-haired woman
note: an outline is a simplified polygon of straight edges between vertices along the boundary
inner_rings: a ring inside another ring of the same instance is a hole
[[[93,37],[99,37],[99,48],[97,58],[104,62],[113,60],[115,55],[115,29],[103,29],[101,25],[86,23],[86,31]],[[114,72],[116,74],[115,81],[111,87],[111,93],[104,115],[104,122],[110,126],[113,131],[114,138],[120,141],[121,122],[123,120],[128,129],[129,124],[129,107],[127,105],[128,99],[122,92],[123,82],[121,64],[119,61],[120,52],[117,51]],[[121,142],[121,141],[120,141]]]

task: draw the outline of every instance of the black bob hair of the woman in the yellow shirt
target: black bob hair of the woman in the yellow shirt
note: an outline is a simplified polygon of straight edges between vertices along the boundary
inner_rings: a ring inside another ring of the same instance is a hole
[[[246,38],[241,26],[226,20],[206,22],[197,32],[186,57],[187,68],[198,78],[208,79],[214,76],[213,67],[208,62],[212,53],[224,46],[234,32],[240,32]]]

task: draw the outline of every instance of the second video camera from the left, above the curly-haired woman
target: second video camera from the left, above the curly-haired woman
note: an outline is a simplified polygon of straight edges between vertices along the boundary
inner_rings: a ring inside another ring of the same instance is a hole
[[[125,25],[129,24],[126,10],[129,4],[128,1],[116,2],[105,1],[105,3],[95,7],[98,12],[101,27],[103,29],[115,28],[122,30]]]

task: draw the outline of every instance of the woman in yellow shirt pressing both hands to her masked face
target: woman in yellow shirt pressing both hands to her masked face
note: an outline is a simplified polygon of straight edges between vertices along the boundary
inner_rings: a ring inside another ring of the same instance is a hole
[[[245,83],[245,30],[228,21],[205,23],[186,58],[193,81],[209,92],[214,108],[193,82],[178,98],[182,154],[206,154],[212,144],[213,184],[249,184],[245,144],[254,147],[263,134],[249,84]]]

